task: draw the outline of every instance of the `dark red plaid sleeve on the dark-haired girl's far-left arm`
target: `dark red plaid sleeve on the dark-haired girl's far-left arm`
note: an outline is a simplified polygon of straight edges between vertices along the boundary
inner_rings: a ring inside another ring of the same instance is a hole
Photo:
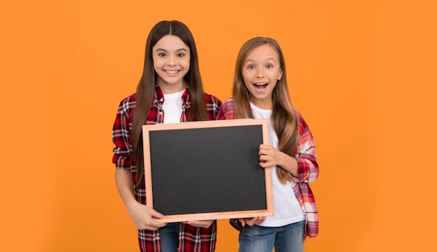
[[[130,141],[133,108],[135,101],[132,96],[124,98],[119,104],[114,126],[112,126],[112,142],[115,144],[112,163],[117,169],[131,169],[132,147]]]

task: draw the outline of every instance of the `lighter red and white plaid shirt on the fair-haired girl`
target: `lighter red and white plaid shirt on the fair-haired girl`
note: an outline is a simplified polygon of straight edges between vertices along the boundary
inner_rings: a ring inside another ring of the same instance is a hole
[[[297,159],[298,177],[292,177],[292,189],[295,192],[300,206],[305,212],[305,237],[316,237],[318,234],[318,213],[316,200],[308,184],[309,182],[315,181],[319,174],[316,159],[316,144],[302,115],[297,110],[295,110],[295,114],[299,120],[299,141],[297,143],[296,153],[293,157]],[[237,112],[235,111],[235,103],[232,101],[232,98],[230,98],[223,102],[223,105],[218,111],[217,119],[236,118]],[[239,230],[238,222],[231,220],[230,224]]]

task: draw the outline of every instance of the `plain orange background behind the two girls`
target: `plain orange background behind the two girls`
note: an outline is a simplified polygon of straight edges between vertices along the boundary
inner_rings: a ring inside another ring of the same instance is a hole
[[[221,100],[242,43],[279,41],[320,163],[320,235],[305,251],[432,250],[435,16],[423,0],[3,1],[0,251],[138,250],[111,129],[161,20],[188,25]],[[216,251],[236,248],[219,221]]]

